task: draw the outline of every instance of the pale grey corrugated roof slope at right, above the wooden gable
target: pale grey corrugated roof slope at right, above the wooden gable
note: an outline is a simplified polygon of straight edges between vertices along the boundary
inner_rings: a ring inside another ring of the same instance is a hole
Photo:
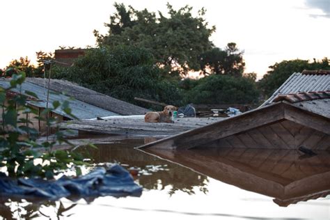
[[[273,102],[278,95],[330,90],[330,74],[301,74],[294,72],[260,107]]]

